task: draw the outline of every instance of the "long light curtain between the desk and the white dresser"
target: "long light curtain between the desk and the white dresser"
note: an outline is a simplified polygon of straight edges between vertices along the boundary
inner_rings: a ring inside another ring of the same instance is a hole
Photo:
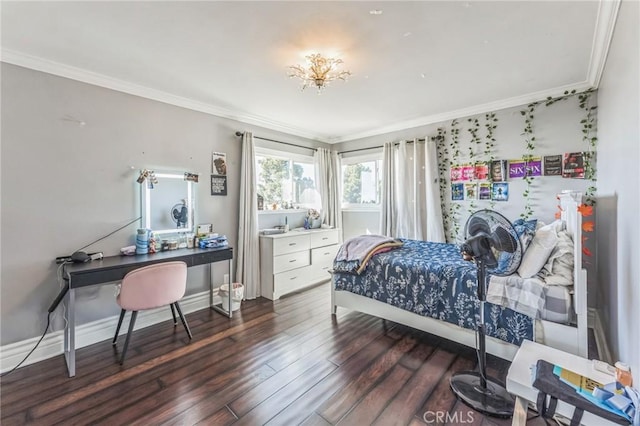
[[[253,134],[244,132],[240,165],[240,208],[235,281],[243,283],[246,299],[260,295],[258,191]]]

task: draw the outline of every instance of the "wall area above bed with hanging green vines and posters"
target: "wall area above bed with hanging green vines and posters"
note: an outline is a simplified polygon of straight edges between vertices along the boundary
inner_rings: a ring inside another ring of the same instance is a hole
[[[440,126],[436,142],[443,222],[460,243],[466,218],[480,209],[516,219],[553,220],[554,197],[596,195],[596,92],[562,96]]]

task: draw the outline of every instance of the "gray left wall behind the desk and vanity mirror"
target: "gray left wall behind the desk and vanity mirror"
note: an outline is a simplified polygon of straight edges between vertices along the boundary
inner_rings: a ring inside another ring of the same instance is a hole
[[[56,256],[140,215],[137,169],[200,173],[196,221],[212,223],[235,246],[241,149],[235,131],[326,146],[4,63],[1,71],[2,345],[42,333],[58,293]],[[210,195],[212,151],[227,154],[227,196]],[[115,255],[133,243],[137,227],[87,250]],[[226,268],[214,266],[217,282]],[[206,272],[190,268],[189,294],[208,288]],[[78,298],[78,324],[118,312],[112,285],[84,289]],[[53,328],[61,325],[57,313]]]

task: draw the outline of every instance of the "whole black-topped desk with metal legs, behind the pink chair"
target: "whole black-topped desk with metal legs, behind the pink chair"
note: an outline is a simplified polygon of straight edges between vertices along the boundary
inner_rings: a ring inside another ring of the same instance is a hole
[[[211,265],[214,262],[229,261],[229,282],[233,282],[232,261],[233,249],[231,247],[212,249],[180,249],[163,251],[160,253],[144,254],[136,256],[110,256],[102,260],[94,260],[87,263],[69,263],[64,265],[63,277],[66,281],[65,290],[67,297],[67,324],[64,332],[64,354],[67,361],[69,377],[76,375],[75,354],[75,291],[81,287],[105,284],[120,281],[127,273],[143,266],[155,263],[183,261],[188,267],[197,265]],[[63,291],[65,291],[63,290]],[[229,304],[231,307],[231,291],[229,292]],[[225,311],[222,305],[213,305],[213,282],[209,283],[209,305],[212,309],[231,318],[231,309]]]

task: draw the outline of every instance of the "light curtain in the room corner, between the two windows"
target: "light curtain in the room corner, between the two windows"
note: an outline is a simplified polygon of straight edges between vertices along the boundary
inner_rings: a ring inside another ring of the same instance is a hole
[[[322,223],[342,228],[340,211],[340,160],[336,152],[318,148],[313,155],[316,169],[316,188],[322,200]]]

